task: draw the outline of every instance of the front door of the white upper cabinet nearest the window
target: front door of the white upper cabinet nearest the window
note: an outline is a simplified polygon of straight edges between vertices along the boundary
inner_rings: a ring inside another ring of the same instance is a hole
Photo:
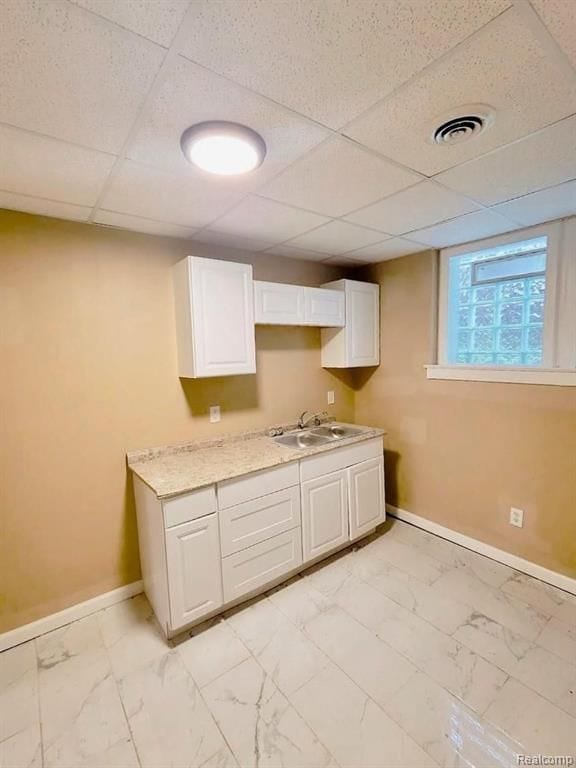
[[[380,317],[377,285],[347,281],[346,334],[348,366],[378,365]]]

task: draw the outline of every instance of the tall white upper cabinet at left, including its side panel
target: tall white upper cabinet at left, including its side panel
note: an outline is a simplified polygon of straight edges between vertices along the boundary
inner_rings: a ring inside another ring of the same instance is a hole
[[[256,372],[252,267],[187,256],[174,267],[178,372]]]

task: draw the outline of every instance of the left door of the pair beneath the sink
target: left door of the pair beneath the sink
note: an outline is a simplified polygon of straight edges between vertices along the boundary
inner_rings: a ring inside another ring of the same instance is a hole
[[[347,470],[302,483],[302,551],[304,562],[348,541]]]

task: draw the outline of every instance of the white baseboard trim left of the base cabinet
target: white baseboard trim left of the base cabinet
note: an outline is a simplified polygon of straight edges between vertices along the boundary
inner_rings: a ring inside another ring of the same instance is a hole
[[[126,584],[123,587],[118,587],[118,589],[113,589],[111,592],[104,592],[102,595],[97,595],[90,600],[84,600],[82,603],[71,605],[70,608],[65,608],[63,611],[58,611],[58,613],[51,613],[49,616],[38,619],[38,621],[33,621],[30,624],[24,624],[22,627],[4,632],[0,634],[0,652],[15,645],[25,643],[28,640],[33,640],[40,635],[45,635],[46,632],[51,632],[53,629],[65,627],[66,624],[83,619],[85,616],[101,611],[103,608],[109,608],[115,603],[121,603],[122,600],[139,595],[143,590],[144,584],[142,581],[134,581],[132,584]]]

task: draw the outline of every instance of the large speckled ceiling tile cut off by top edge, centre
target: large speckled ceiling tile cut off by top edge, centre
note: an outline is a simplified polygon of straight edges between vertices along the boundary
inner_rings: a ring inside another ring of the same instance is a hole
[[[509,0],[196,0],[181,52],[338,128],[509,5]]]

